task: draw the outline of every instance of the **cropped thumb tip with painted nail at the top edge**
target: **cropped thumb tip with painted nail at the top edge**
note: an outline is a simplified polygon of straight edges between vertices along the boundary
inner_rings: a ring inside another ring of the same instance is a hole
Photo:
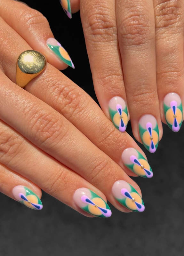
[[[60,4],[70,19],[72,18],[72,13],[79,11],[79,0],[60,0]]]

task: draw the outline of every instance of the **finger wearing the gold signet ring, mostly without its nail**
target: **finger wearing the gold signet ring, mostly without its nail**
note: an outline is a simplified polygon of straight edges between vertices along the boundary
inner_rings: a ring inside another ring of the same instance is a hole
[[[3,20],[0,23],[2,38],[2,44],[0,44],[1,66],[5,74],[15,82],[16,60],[21,52],[30,49],[30,47]],[[6,35],[10,33],[11,38],[7,40]],[[9,47],[11,47],[11,50]],[[10,54],[10,51],[12,54]],[[134,175],[136,173],[147,177],[142,172],[134,171],[132,165],[127,167],[122,158],[122,152],[127,148],[135,148],[146,157],[131,136],[126,132],[120,133],[115,129],[91,97],[61,72],[51,65],[47,65],[45,71],[30,82],[25,89],[65,116],[93,144],[110,156],[128,174]],[[128,160],[129,155],[127,155]]]

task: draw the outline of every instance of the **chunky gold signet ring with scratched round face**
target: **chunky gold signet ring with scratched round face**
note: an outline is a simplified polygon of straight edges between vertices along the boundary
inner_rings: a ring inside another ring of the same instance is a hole
[[[46,58],[40,52],[28,50],[22,52],[17,60],[16,84],[26,86],[33,78],[43,72]]]

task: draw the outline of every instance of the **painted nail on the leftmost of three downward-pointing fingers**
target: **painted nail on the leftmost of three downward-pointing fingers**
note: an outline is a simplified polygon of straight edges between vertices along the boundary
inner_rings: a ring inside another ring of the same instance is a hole
[[[128,110],[125,101],[119,96],[113,97],[109,101],[108,108],[114,126],[120,132],[125,132],[128,124]]]

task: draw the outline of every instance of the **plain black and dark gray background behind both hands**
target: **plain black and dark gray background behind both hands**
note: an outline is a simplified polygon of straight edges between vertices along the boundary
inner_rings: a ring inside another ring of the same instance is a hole
[[[44,13],[72,57],[76,69],[64,73],[96,99],[79,13],[69,20],[59,0],[25,2]],[[130,124],[127,131],[131,134]],[[154,177],[134,179],[143,213],[122,213],[110,205],[111,218],[87,218],[44,192],[44,209],[32,211],[1,194],[0,256],[183,255],[183,132],[184,125],[176,134],[164,125],[156,153],[146,152]]]

